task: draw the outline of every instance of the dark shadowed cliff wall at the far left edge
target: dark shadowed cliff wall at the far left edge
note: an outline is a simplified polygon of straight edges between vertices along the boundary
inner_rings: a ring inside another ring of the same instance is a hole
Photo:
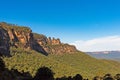
[[[0,56],[10,56],[9,35],[0,25]]]

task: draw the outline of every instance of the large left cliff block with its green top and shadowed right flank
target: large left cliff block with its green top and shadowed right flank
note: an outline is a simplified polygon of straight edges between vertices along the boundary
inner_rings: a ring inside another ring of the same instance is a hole
[[[34,40],[32,30],[28,27],[19,27],[7,23],[0,23],[1,28],[5,29],[9,36],[10,46],[16,48],[31,49],[43,54],[45,50]]]

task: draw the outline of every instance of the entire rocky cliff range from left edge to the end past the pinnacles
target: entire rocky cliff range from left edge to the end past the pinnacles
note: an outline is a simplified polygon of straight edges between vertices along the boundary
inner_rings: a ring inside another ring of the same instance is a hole
[[[60,39],[47,38],[44,35],[32,33],[28,27],[0,23],[1,52],[9,53],[9,45],[16,48],[32,49],[47,54],[62,54],[76,52],[74,46],[61,43]],[[5,45],[7,46],[5,46]],[[4,51],[5,50],[5,51]]]

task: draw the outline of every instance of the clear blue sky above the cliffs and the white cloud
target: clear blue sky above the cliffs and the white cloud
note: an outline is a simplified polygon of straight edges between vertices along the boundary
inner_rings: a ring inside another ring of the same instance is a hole
[[[0,21],[73,43],[120,35],[120,0],[1,0]]]

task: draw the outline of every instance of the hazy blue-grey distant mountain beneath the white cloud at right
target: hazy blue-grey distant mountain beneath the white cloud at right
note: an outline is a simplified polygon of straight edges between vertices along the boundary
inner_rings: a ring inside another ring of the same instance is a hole
[[[86,53],[99,59],[120,60],[120,51],[98,51],[98,52],[86,52]]]

